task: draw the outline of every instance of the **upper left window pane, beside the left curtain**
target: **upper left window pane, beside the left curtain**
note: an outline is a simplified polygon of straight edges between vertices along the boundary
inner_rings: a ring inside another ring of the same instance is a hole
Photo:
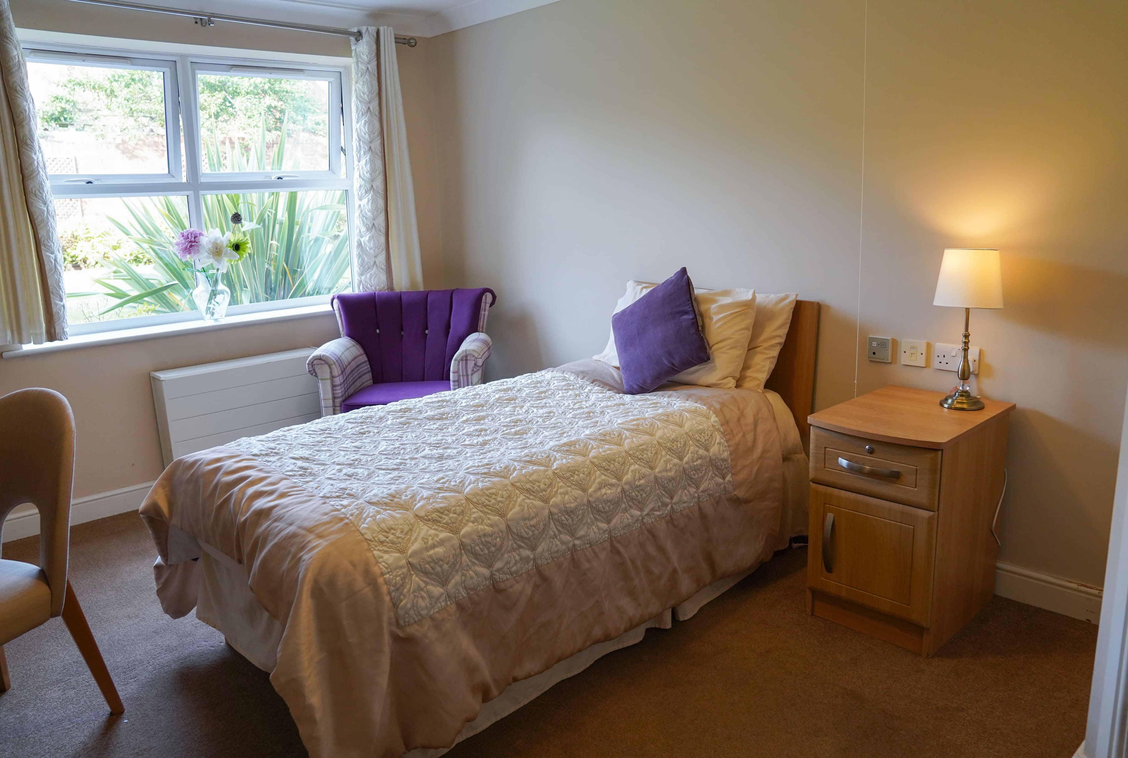
[[[167,174],[165,72],[27,62],[49,174]]]

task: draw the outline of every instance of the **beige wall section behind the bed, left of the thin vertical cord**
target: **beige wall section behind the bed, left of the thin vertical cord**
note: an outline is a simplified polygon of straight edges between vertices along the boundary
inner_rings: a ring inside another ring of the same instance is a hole
[[[494,377],[600,352],[627,280],[688,265],[821,300],[819,397],[853,393],[861,6],[711,5],[707,33],[565,0],[432,39],[447,281],[499,292]]]

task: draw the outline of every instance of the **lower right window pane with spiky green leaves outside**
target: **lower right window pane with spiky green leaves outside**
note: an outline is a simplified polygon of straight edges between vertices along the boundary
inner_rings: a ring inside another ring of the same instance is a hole
[[[228,266],[231,305],[333,294],[349,287],[344,191],[204,195],[204,228],[227,231],[243,215],[250,252]]]

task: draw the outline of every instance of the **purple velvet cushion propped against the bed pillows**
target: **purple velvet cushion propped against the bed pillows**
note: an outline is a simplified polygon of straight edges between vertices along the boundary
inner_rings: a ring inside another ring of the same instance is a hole
[[[710,358],[684,267],[611,316],[611,332],[628,395],[649,393]]]

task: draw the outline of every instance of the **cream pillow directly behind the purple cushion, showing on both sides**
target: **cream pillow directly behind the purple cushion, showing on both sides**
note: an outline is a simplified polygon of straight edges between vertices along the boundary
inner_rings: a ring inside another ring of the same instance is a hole
[[[656,284],[652,282],[634,280],[627,282],[627,291],[615,305],[615,312],[619,312],[654,287]],[[732,389],[737,386],[737,377],[740,374],[752,335],[752,323],[756,318],[756,290],[695,289],[694,300],[700,311],[705,342],[708,343],[710,360],[682,371],[670,381]],[[593,358],[618,368],[619,355],[615,349],[614,330],[607,341],[607,347]]]

